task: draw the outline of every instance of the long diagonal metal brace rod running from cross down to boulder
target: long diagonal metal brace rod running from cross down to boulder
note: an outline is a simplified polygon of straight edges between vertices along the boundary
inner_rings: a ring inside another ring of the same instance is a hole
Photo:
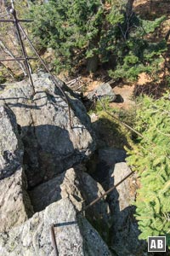
[[[67,95],[65,94],[65,91],[60,88],[58,81],[55,79],[54,75],[50,72],[48,66],[47,66],[46,63],[42,60],[42,57],[38,54],[37,49],[36,49],[36,48],[34,47],[34,45],[31,43],[30,38],[28,38],[26,32],[24,31],[24,29],[23,29],[23,27],[20,25],[20,23],[19,23],[19,26],[20,26],[21,32],[24,34],[24,36],[25,36],[26,39],[28,40],[29,44],[31,45],[31,48],[34,50],[35,54],[37,55],[37,58],[42,62],[43,67],[45,67],[46,71],[51,75],[51,77],[52,77],[52,79],[53,79],[53,81],[54,81],[54,84],[57,86],[57,88],[60,90],[60,92],[62,93],[62,95],[65,97],[65,102],[66,102],[67,105],[68,105],[70,127],[71,127],[71,129],[72,129],[72,123],[71,123],[71,107],[70,107],[70,103],[69,103],[69,101],[68,101]]]

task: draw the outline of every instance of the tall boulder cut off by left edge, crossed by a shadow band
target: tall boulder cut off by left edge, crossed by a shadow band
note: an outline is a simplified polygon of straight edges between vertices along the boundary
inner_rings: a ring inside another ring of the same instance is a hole
[[[0,124],[0,232],[3,232],[24,223],[33,209],[22,168],[23,145],[14,113],[6,106],[0,107]]]

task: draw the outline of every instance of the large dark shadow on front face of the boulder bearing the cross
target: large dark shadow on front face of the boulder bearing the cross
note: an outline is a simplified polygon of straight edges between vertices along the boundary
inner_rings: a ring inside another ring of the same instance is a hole
[[[54,125],[22,127],[24,164],[30,186],[42,183],[81,159],[69,132]]]

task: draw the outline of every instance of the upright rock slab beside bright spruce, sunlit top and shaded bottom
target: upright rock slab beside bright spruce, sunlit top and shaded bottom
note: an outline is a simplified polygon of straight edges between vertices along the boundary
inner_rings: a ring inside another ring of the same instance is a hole
[[[125,162],[116,163],[114,170],[110,172],[110,186],[119,183],[130,172]],[[136,188],[136,178],[133,175],[121,183],[109,198],[113,216],[111,247],[119,256],[144,255],[146,244],[138,239],[140,232],[133,216],[135,207],[132,203],[135,200]]]

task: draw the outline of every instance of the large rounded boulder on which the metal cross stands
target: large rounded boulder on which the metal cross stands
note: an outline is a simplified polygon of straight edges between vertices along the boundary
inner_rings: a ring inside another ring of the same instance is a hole
[[[71,129],[68,106],[50,75],[34,74],[32,79],[34,96],[26,81],[7,86],[0,95],[0,102],[8,104],[20,125],[30,187],[86,160],[95,149],[90,119],[82,102],[58,80],[71,105]]]

